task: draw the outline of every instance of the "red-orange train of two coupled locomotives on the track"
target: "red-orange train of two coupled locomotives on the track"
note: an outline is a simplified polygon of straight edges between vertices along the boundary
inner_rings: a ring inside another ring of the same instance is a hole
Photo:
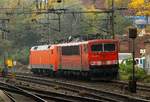
[[[30,50],[33,74],[114,79],[118,76],[118,41],[34,46]]]

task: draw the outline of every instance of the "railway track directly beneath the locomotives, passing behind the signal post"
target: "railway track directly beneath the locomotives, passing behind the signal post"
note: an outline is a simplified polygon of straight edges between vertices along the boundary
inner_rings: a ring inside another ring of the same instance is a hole
[[[25,75],[25,76],[33,76],[31,73],[18,73],[18,75]],[[39,76],[37,76],[39,77]],[[43,77],[43,76],[42,76]],[[49,77],[44,77],[47,79],[50,79]],[[58,78],[53,78],[54,80],[58,80]],[[83,80],[65,80],[65,79],[60,79],[59,80],[63,81],[63,82],[69,82],[69,83],[73,83],[73,84],[82,84],[84,86],[88,86],[88,87],[95,87],[95,88],[99,88],[99,87],[108,87],[108,90],[111,88],[110,86],[114,86],[112,88],[116,88],[118,87],[118,90],[122,91],[120,93],[126,94],[129,93],[128,92],[128,82],[127,81],[119,81],[119,80],[111,80],[111,81],[83,81]],[[106,88],[107,89],[107,88]],[[126,91],[126,92],[125,92]],[[141,92],[145,93],[145,94],[150,94],[150,85],[148,84],[143,84],[143,83],[137,83],[137,91],[138,93]],[[145,99],[149,99],[150,100],[150,96],[141,96],[141,98],[145,98]]]

